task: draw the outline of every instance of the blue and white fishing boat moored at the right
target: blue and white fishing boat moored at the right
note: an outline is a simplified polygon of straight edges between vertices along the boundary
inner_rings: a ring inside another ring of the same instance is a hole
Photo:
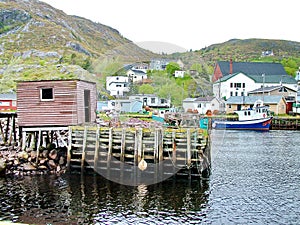
[[[257,100],[252,108],[234,111],[238,114],[238,120],[214,120],[214,129],[232,130],[269,130],[272,116],[269,107],[263,104],[262,100]]]

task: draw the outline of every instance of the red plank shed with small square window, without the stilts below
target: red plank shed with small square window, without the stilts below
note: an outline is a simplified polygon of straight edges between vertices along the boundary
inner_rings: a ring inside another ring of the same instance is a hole
[[[95,122],[96,96],[95,83],[78,79],[18,82],[18,124],[51,127]]]

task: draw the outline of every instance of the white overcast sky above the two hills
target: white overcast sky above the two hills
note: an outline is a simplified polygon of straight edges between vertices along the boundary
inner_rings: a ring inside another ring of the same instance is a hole
[[[42,1],[66,14],[117,29],[159,53],[199,50],[235,38],[300,42],[300,13],[293,0]]]

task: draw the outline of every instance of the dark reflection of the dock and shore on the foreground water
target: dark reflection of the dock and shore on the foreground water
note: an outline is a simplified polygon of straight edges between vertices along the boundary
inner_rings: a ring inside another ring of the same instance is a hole
[[[208,183],[170,179],[124,186],[98,175],[0,179],[0,220],[34,224],[201,221]]]

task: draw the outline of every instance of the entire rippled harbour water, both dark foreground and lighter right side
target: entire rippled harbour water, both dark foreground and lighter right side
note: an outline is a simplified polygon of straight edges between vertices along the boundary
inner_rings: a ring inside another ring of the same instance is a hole
[[[0,178],[0,221],[300,224],[300,132],[213,131],[209,181],[128,187],[100,176]]]

